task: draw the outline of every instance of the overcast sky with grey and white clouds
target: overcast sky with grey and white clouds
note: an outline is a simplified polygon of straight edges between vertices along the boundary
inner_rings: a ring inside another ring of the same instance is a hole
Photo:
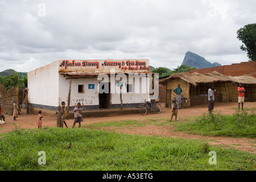
[[[247,61],[237,30],[254,0],[0,0],[0,72],[62,59],[149,59],[177,68],[187,51],[222,65]]]

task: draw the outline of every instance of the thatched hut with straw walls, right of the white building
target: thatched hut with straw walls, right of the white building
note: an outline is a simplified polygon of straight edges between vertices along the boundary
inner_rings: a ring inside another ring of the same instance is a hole
[[[216,102],[237,102],[238,83],[242,83],[246,89],[245,97],[247,101],[256,101],[256,78],[252,76],[231,77],[221,75],[218,72],[212,73],[174,73],[170,77],[160,80],[160,84],[166,85],[166,106],[176,97],[172,92],[180,84],[183,97],[187,97],[187,106],[208,104],[209,85],[213,84],[217,90],[215,94]]]

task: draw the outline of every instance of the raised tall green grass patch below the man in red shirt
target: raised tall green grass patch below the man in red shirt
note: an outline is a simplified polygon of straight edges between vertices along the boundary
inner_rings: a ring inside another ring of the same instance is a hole
[[[191,134],[256,138],[256,115],[253,111],[241,111],[233,115],[221,115],[216,110],[212,114],[204,113],[195,122],[176,125],[178,131]]]

